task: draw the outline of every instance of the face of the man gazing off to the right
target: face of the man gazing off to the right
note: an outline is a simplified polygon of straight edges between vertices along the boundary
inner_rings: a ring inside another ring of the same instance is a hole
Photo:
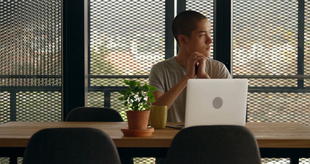
[[[210,47],[213,40],[210,38],[211,26],[207,19],[197,22],[196,30],[192,31],[191,38],[188,42],[190,52],[200,52],[205,57],[210,55]]]

